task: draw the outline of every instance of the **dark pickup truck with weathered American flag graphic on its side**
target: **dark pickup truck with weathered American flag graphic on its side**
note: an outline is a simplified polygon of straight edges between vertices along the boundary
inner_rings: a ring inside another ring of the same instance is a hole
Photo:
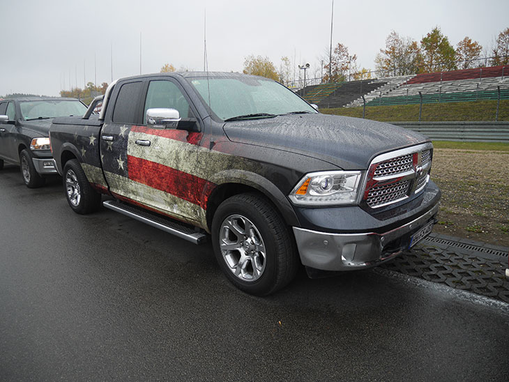
[[[50,139],[77,213],[103,205],[194,243],[211,235],[238,288],[266,295],[356,270],[427,236],[440,191],[433,147],[386,123],[317,112],[281,84],[236,73],[129,77],[100,116],[54,119]]]

